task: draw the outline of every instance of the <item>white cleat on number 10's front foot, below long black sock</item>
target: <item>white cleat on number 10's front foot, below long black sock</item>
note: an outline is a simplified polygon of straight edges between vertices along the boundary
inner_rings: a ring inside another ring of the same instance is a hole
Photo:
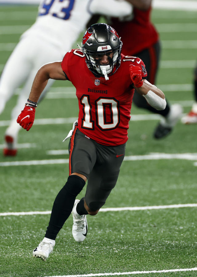
[[[54,240],[47,239],[46,237],[39,243],[38,247],[33,251],[33,257],[41,258],[43,261],[49,257],[49,254],[53,252],[55,245]]]

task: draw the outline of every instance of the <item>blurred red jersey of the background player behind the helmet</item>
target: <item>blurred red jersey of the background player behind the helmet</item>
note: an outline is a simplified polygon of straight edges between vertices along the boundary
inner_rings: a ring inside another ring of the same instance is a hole
[[[133,9],[133,19],[120,21],[111,18],[111,26],[121,37],[122,53],[134,55],[149,48],[159,40],[159,35],[151,23],[151,7],[147,11]]]

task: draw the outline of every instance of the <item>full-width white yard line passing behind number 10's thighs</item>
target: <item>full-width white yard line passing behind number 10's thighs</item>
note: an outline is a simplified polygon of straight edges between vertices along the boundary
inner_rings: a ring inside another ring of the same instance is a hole
[[[197,160],[197,153],[150,153],[149,155],[134,155],[125,156],[123,161],[136,160]],[[12,161],[1,162],[0,166],[20,166],[20,165],[46,165],[46,164],[68,164],[69,159],[53,159],[53,160],[27,160],[27,161]]]

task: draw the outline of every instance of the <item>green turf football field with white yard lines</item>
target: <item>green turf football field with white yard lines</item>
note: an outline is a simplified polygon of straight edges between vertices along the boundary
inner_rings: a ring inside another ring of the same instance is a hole
[[[0,6],[0,71],[36,14],[36,6]],[[154,10],[152,19],[163,45],[157,86],[171,104],[180,103],[183,113],[187,113],[193,102],[196,12]],[[17,95],[11,98],[0,115],[1,152],[16,99]],[[71,84],[56,81],[37,108],[34,126],[29,132],[21,129],[18,155],[0,155],[0,276],[196,276],[197,207],[163,206],[197,203],[197,125],[184,126],[179,121],[167,138],[155,140],[153,130],[159,117],[134,105],[126,149],[130,160],[123,161],[117,185],[103,207],[133,210],[103,210],[94,217],[88,216],[88,234],[81,244],[72,237],[69,217],[50,258],[43,262],[32,257],[50,214],[20,212],[51,210],[68,177],[68,154],[50,151],[67,150],[68,142],[62,140],[77,115],[78,101]],[[57,118],[63,123],[58,124]],[[35,165],[20,164],[32,160]],[[44,160],[46,164],[38,164]],[[79,199],[84,193],[85,188]]]

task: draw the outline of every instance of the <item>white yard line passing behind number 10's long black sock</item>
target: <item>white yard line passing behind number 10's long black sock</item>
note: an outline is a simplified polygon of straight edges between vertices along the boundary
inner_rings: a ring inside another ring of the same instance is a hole
[[[172,204],[159,206],[142,206],[142,207],[119,207],[119,208],[101,208],[99,212],[108,211],[146,211],[146,210],[162,210],[162,209],[178,209],[197,207],[197,203],[190,204]],[[21,211],[21,212],[5,212],[0,213],[0,216],[19,216],[19,215],[50,215],[51,211]]]

